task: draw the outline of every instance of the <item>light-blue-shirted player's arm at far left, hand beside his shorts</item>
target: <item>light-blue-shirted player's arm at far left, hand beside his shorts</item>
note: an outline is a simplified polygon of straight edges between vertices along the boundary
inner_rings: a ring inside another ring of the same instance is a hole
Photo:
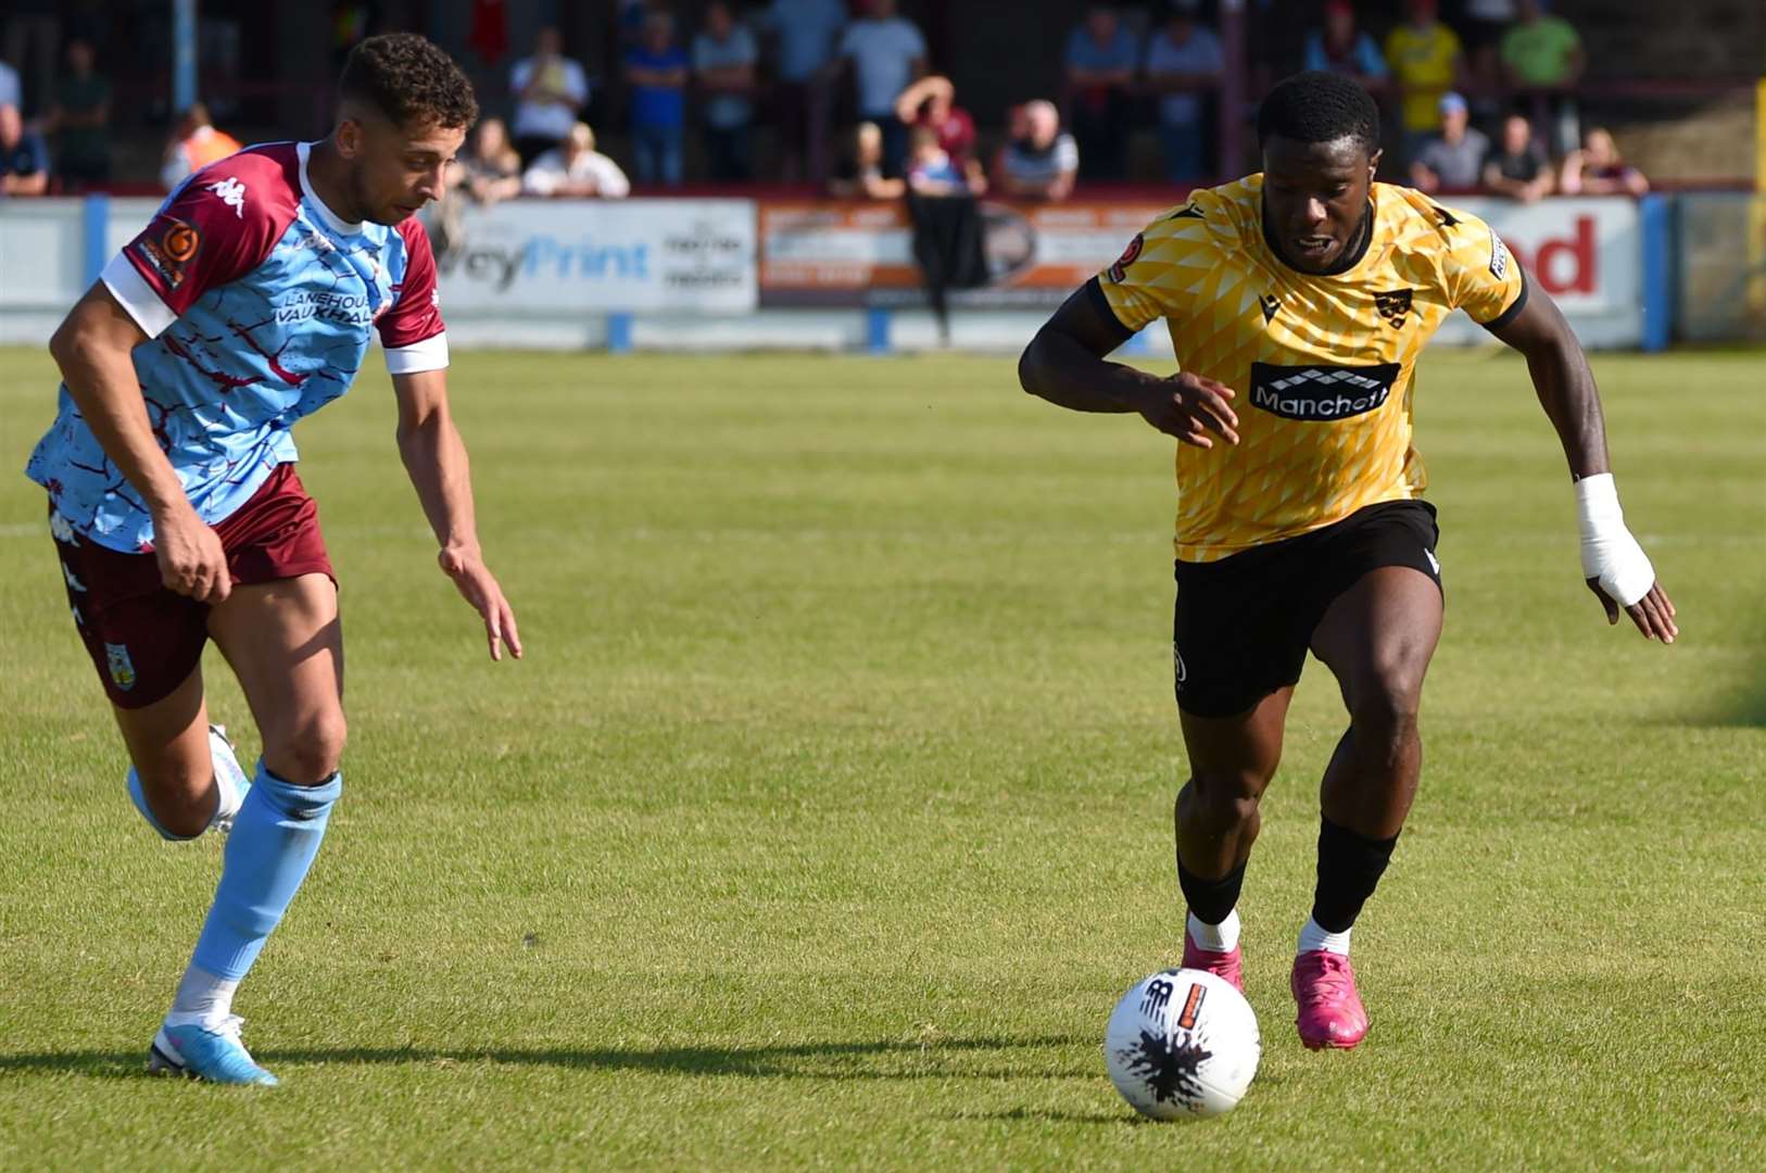
[[[161,581],[198,602],[223,602],[231,578],[221,537],[196,516],[178,473],[154,440],[131,357],[145,341],[147,330],[99,281],[67,311],[49,339],[49,353],[92,436],[154,518]]]

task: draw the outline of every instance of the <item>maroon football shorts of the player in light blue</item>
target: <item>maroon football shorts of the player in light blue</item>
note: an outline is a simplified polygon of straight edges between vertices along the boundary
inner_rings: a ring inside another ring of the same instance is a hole
[[[118,708],[145,708],[170,696],[196,670],[208,643],[208,604],[159,579],[152,553],[122,553],[69,530],[49,505],[67,602],[87,655]],[[320,511],[293,465],[277,465],[251,498],[214,526],[235,586],[300,574],[337,581]]]

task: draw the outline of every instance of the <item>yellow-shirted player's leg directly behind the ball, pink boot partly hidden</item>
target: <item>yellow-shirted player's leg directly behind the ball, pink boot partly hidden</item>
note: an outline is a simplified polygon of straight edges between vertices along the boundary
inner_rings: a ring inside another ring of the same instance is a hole
[[[1178,885],[1189,904],[1183,965],[1208,970],[1243,989],[1238,947],[1238,892],[1250,844],[1263,825],[1259,802],[1282,760],[1282,728],[1291,687],[1264,696],[1236,717],[1197,717],[1180,710],[1190,777],[1178,791]]]

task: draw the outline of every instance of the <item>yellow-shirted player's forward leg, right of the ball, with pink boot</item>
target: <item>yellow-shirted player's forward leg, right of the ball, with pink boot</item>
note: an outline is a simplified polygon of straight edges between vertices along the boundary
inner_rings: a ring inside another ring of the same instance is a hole
[[[1337,597],[1312,652],[1349,710],[1321,786],[1317,889],[1300,931],[1293,991],[1309,1048],[1353,1048],[1367,1010],[1349,968],[1349,929],[1386,871],[1422,776],[1416,714],[1441,638],[1441,590],[1422,571],[1381,567]]]

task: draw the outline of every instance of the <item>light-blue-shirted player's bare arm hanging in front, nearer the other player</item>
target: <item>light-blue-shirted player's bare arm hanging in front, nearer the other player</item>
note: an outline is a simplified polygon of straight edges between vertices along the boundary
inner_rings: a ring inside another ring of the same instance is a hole
[[[466,445],[447,406],[447,371],[394,375],[399,397],[399,456],[417,488],[442,551],[436,562],[454,586],[484,618],[491,659],[503,659],[503,645],[521,659],[516,613],[496,576],[484,565],[479,526],[472,509],[472,472]]]

